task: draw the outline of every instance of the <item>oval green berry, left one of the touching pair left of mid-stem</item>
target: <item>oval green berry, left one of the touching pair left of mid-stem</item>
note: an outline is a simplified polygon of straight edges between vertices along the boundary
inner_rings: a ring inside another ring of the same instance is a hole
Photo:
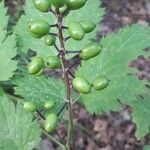
[[[39,73],[44,66],[44,60],[42,57],[34,57],[30,64],[28,65],[28,71],[30,74],[37,74]]]

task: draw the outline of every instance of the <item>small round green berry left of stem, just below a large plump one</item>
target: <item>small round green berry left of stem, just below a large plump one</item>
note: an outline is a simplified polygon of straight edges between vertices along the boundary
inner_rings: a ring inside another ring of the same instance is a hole
[[[54,45],[54,44],[55,44],[55,41],[56,41],[56,37],[53,36],[53,35],[45,35],[45,36],[43,37],[43,39],[44,39],[45,45],[47,45],[47,46],[52,46],[52,45]]]

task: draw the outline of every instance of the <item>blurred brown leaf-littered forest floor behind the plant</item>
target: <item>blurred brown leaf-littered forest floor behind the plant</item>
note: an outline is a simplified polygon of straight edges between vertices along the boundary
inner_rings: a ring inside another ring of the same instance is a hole
[[[101,23],[102,32],[98,33],[98,38],[132,23],[144,26],[150,24],[150,1],[148,0],[102,0],[102,7],[106,8],[106,15]],[[131,66],[137,67],[140,71],[139,79],[150,80],[150,58],[139,57],[139,60],[140,63],[135,60]],[[148,69],[145,71],[141,64],[147,66]],[[77,124],[76,128],[76,149],[142,150],[143,145],[150,144],[150,135],[140,141],[136,140],[136,127],[131,122],[131,112],[131,108],[125,107],[120,112],[110,112],[97,117],[91,116],[83,107],[76,104],[74,122],[82,124],[82,126]],[[62,137],[66,133],[63,124],[59,125],[57,131]],[[43,150],[57,149],[57,146],[46,138],[43,138],[40,147]]]

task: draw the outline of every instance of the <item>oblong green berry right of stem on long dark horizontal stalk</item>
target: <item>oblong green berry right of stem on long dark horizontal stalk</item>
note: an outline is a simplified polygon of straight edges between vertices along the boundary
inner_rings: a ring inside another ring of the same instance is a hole
[[[92,42],[84,47],[80,56],[83,60],[88,60],[100,54],[101,49],[102,47],[99,43]]]

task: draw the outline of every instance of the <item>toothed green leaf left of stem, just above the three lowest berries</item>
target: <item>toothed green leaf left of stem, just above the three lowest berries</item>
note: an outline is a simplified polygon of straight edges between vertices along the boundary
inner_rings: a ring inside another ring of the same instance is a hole
[[[39,108],[51,100],[56,103],[52,111],[58,112],[65,103],[66,90],[64,83],[59,79],[26,75],[16,77],[13,83],[17,85],[15,94],[22,96],[26,101],[34,102]]]

